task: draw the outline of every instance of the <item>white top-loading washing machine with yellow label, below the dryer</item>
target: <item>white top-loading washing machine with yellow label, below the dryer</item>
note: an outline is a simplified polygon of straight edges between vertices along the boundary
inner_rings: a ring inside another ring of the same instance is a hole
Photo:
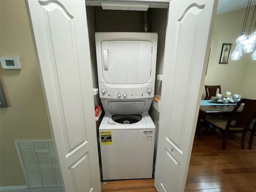
[[[103,180],[152,178],[155,126],[148,113],[106,114],[99,132]]]

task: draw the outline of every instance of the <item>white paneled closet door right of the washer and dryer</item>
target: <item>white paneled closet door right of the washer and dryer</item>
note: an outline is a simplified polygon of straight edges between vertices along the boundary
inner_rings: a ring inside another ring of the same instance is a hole
[[[217,3],[170,2],[156,156],[158,192],[185,188]]]

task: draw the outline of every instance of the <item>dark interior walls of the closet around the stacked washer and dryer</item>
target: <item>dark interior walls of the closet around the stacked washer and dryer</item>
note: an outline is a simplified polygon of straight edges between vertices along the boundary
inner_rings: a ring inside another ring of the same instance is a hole
[[[157,75],[163,72],[164,44],[167,23],[167,8],[149,8],[148,24],[149,32],[158,33],[158,51],[156,62],[155,94],[161,95],[161,81],[157,80]],[[103,10],[101,6],[86,6],[86,16],[88,22],[88,32],[90,41],[90,54],[92,64],[93,87],[98,88],[95,32],[144,32],[144,12],[143,11],[122,11]],[[136,70],[136,69],[135,69]],[[100,98],[94,96],[95,105],[100,105]],[[149,114],[156,126],[154,162],[158,142],[158,121],[159,112],[152,106]],[[102,114],[103,117],[104,113]],[[101,119],[96,122],[97,134]]]

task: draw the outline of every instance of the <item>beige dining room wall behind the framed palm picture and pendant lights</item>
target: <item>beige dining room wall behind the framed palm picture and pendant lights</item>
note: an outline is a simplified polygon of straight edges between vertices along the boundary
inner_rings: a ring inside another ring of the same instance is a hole
[[[256,16],[252,20],[254,6],[250,8],[245,32],[250,34],[256,23]],[[242,53],[240,60],[231,60],[231,54],[236,48],[236,39],[241,35],[246,8],[219,14],[216,16],[212,36],[208,68],[204,85],[221,85],[222,95],[226,91],[241,94],[244,98],[256,99],[256,60],[252,60],[252,53]],[[232,43],[228,64],[219,64],[223,43]],[[202,98],[205,96],[203,91]]]

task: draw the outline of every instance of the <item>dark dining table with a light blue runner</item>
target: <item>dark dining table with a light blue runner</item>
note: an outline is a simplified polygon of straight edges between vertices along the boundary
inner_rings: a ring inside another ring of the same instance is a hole
[[[198,123],[199,126],[197,128],[197,132],[199,133],[199,138],[202,140],[202,130],[203,127],[202,121],[206,116],[230,116],[233,111],[236,103],[220,103],[220,102],[212,102],[210,100],[201,100],[199,115],[198,115]],[[237,114],[242,112],[244,105],[241,104],[237,110]],[[200,123],[201,122],[201,123]]]

